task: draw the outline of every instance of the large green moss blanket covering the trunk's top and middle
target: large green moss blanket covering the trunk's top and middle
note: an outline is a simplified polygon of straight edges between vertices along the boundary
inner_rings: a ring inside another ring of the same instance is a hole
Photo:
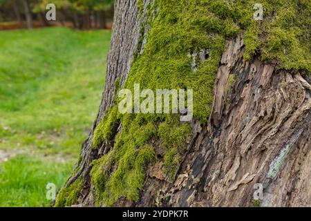
[[[264,21],[254,20],[254,3],[262,3]],[[142,7],[140,1],[141,13]],[[156,0],[149,6],[148,15],[155,10],[156,17],[147,23],[151,27],[147,44],[142,54],[135,55],[124,88],[140,84],[140,90],[193,89],[194,117],[202,124],[209,116],[214,75],[226,39],[242,31],[245,59],[258,55],[264,60],[277,60],[279,68],[311,70],[308,0]],[[206,49],[209,55],[205,60],[196,58],[194,71],[189,55]],[[93,137],[98,148],[111,139],[115,124],[122,125],[111,152],[93,162],[91,177],[98,206],[112,206],[122,196],[138,201],[145,166],[156,159],[152,146],[155,140],[164,148],[165,171],[173,178],[185,140],[191,135],[189,124],[180,124],[178,115],[121,115],[117,102],[103,117]]]

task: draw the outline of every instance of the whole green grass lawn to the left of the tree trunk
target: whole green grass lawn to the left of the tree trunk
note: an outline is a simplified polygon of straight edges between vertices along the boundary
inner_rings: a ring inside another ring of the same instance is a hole
[[[110,31],[0,32],[0,206],[48,206],[97,114]],[[1,157],[0,157],[1,159]]]

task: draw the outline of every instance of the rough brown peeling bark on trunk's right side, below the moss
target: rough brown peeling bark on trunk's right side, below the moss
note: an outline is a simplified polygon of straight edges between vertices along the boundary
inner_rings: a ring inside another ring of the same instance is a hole
[[[229,41],[209,124],[194,124],[196,136],[173,183],[160,164],[149,166],[138,205],[249,206],[261,183],[262,206],[310,206],[310,89],[300,73],[243,60],[241,36]]]

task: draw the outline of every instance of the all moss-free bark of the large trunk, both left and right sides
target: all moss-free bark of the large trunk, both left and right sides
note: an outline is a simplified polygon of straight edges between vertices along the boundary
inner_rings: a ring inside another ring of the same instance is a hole
[[[71,204],[95,205],[92,162],[110,150],[107,143],[93,148],[95,128],[115,102],[117,81],[124,84],[135,53],[143,53],[146,42],[148,28],[140,28],[148,13],[139,16],[136,3],[115,1],[102,103],[65,186],[82,177],[82,189]],[[173,180],[158,157],[147,165],[139,200],[124,196],[115,206],[252,206],[255,184],[263,185],[261,206],[311,206],[311,79],[305,71],[279,69],[277,62],[269,64],[258,55],[245,60],[244,54],[243,32],[227,39],[208,122],[191,122],[193,136],[185,142]],[[120,126],[112,133],[120,133]]]

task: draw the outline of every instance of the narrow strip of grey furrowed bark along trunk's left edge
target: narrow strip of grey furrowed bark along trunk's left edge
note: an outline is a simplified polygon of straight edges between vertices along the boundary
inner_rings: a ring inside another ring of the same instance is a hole
[[[93,150],[92,138],[96,126],[100,123],[100,119],[108,108],[113,104],[115,97],[115,83],[117,79],[121,79],[121,84],[124,83],[129,75],[133,55],[138,46],[140,38],[140,20],[138,19],[138,9],[136,1],[115,1],[115,15],[113,21],[113,34],[111,37],[111,49],[109,51],[109,64],[106,70],[106,83],[104,93],[102,94],[102,102],[100,109],[93,124],[93,128],[88,139],[82,145],[81,158],[77,164],[79,168],[77,173],[73,174],[66,183],[69,186],[77,177],[84,177],[84,188],[79,197],[79,202],[86,205],[92,205],[93,195],[91,194],[91,162],[98,159],[104,153],[104,147],[98,150]]]

